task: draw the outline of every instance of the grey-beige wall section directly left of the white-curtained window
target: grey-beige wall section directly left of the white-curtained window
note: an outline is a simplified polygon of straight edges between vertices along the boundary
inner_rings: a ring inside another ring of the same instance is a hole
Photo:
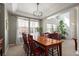
[[[17,17],[9,13],[9,44],[16,44]]]

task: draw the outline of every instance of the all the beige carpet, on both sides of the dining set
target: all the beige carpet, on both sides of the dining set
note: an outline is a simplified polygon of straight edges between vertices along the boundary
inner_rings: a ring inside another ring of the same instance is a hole
[[[64,40],[62,44],[62,55],[63,56],[76,56],[73,40]],[[6,56],[26,56],[26,54],[24,53],[24,49],[22,45],[18,45],[18,46],[14,45],[14,46],[9,47],[6,53]]]

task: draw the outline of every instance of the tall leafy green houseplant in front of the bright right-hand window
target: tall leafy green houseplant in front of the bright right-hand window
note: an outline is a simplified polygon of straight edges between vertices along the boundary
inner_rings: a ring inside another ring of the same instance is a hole
[[[57,27],[57,31],[61,34],[61,39],[65,39],[66,38],[65,36],[68,35],[66,24],[64,23],[63,20],[60,20],[59,25]]]

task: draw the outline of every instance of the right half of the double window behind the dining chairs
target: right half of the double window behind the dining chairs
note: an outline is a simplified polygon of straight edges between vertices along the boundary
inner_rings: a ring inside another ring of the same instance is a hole
[[[39,20],[30,19],[30,34],[33,35],[34,39],[39,36]]]

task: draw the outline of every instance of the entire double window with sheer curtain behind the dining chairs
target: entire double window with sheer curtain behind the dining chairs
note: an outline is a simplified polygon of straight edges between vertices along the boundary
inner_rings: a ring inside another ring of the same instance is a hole
[[[21,43],[22,40],[22,33],[31,34],[33,35],[34,39],[37,39],[39,36],[39,31],[37,30],[39,28],[39,20],[35,19],[29,19],[29,18],[23,18],[18,17],[17,19],[17,40],[16,43]]]

